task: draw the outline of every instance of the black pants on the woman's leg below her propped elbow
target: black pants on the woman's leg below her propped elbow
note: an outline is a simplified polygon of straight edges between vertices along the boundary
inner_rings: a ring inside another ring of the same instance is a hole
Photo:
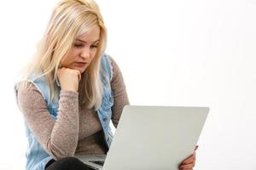
[[[45,170],[90,170],[82,161],[76,157],[65,157],[58,161],[50,160],[46,166]]]

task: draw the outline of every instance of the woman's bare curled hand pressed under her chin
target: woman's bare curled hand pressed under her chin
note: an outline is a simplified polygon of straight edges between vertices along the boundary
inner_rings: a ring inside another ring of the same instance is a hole
[[[61,83],[61,90],[78,91],[81,80],[80,71],[62,67],[57,71],[57,77]]]

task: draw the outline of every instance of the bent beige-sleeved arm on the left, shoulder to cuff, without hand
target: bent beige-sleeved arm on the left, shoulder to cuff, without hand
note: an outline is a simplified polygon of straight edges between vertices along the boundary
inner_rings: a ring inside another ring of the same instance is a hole
[[[79,93],[61,91],[56,120],[31,83],[27,87],[20,84],[17,95],[20,111],[44,150],[55,160],[73,156],[79,139]]]

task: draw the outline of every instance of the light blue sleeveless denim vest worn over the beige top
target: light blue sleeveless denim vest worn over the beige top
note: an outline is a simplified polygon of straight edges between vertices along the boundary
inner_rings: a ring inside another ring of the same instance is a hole
[[[97,110],[97,115],[102,124],[102,129],[104,133],[104,140],[108,148],[113,139],[113,133],[111,132],[111,127],[109,127],[109,122],[111,120],[113,106],[113,91],[110,87],[110,81],[113,77],[112,65],[106,54],[102,55],[100,77],[102,82],[103,96],[102,105]],[[45,81],[44,77],[31,77],[28,80],[32,82],[33,85],[38,88],[38,91],[43,95],[44,100],[48,106],[49,114],[56,119],[58,115],[59,103],[57,100],[53,102],[50,100],[49,86]],[[58,82],[55,82],[58,93],[60,93],[60,86]],[[28,147],[26,150],[26,170],[44,170],[45,165],[49,160],[52,159],[51,156],[42,148],[41,144],[38,143],[36,137],[32,134],[31,130],[26,126],[26,137],[28,139]]]

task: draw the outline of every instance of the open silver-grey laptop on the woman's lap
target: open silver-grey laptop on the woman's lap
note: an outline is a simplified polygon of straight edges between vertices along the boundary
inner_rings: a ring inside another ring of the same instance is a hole
[[[98,170],[177,170],[190,156],[207,107],[126,105],[106,155],[77,156]]]

